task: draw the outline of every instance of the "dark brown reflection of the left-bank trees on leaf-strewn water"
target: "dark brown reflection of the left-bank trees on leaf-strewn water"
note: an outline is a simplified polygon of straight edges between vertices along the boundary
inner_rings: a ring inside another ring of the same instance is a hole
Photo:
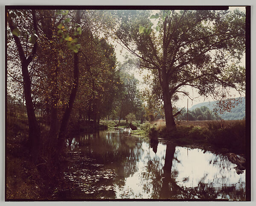
[[[79,148],[73,151],[81,153],[73,154],[73,160],[74,155],[79,157],[71,163],[72,169],[69,169],[69,174],[72,174],[76,181],[82,182],[80,185],[85,189],[89,187],[93,192],[84,194],[77,191],[77,198],[116,198],[113,186],[124,186],[125,178],[137,172],[137,162],[143,152],[142,143],[127,134],[128,132],[123,131],[121,133],[100,131],[76,137]],[[84,156],[87,158],[83,158]],[[96,164],[102,166],[93,166]],[[103,176],[102,172],[104,172]],[[113,175],[114,173],[117,175]],[[109,178],[106,178],[106,175],[110,175]],[[90,182],[95,179],[99,181]]]

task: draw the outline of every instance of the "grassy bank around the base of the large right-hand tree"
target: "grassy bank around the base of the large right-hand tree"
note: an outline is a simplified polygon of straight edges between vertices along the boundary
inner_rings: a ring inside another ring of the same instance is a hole
[[[176,144],[206,144],[224,148],[234,153],[245,154],[245,120],[181,121],[177,130],[166,132],[164,121],[151,127],[151,135],[167,138]]]

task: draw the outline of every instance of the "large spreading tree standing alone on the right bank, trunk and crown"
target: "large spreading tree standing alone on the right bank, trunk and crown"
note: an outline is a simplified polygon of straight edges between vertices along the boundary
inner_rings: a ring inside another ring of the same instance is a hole
[[[175,95],[189,96],[185,86],[215,99],[225,99],[230,87],[244,91],[243,68],[232,65],[245,51],[244,12],[161,11],[151,15],[151,19],[160,18],[156,31],[148,11],[120,13],[116,37],[140,58],[141,67],[156,71],[167,131],[176,129],[173,104]]]

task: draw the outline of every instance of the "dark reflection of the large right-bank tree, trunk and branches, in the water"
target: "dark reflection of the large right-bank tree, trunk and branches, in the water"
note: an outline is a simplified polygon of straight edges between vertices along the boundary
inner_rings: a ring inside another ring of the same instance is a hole
[[[212,183],[204,183],[207,175],[205,175],[197,186],[185,187],[179,186],[175,181],[177,172],[172,168],[172,161],[177,159],[175,157],[175,145],[167,144],[164,166],[161,166],[158,159],[148,161],[147,173],[143,174],[143,179],[151,179],[143,185],[145,192],[151,192],[151,198],[165,198],[165,199],[229,199],[229,200],[244,200],[245,191],[243,189],[243,182],[239,181],[236,185],[227,186],[226,184],[219,184],[220,187],[214,187]],[[221,165],[220,169],[225,165],[226,158],[223,156],[216,157],[215,163]],[[223,162],[224,161],[224,162]],[[186,181],[186,178],[184,179]],[[222,178],[224,180],[224,177]],[[239,186],[238,186],[239,185]],[[237,188],[239,187],[239,188]]]

